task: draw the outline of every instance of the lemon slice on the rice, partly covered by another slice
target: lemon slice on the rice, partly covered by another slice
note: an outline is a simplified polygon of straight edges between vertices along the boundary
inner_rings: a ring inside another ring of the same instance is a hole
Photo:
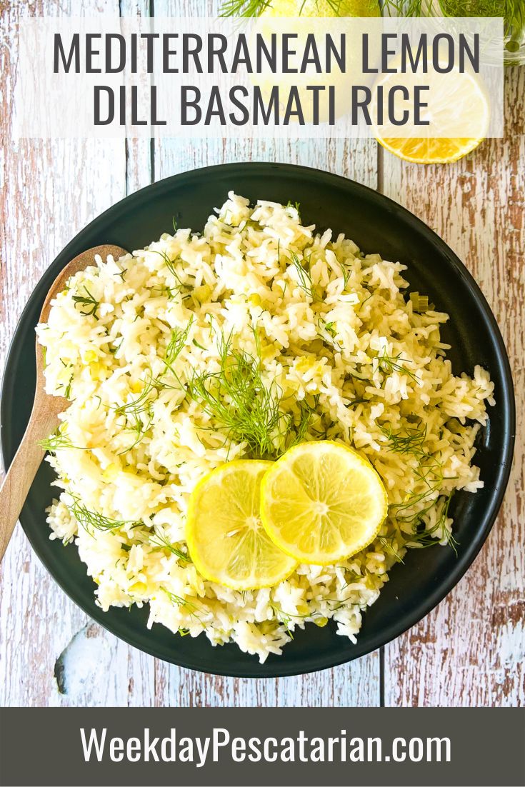
[[[261,479],[272,464],[230,462],[195,486],[186,540],[195,567],[211,582],[235,590],[271,587],[297,567],[261,526]]]

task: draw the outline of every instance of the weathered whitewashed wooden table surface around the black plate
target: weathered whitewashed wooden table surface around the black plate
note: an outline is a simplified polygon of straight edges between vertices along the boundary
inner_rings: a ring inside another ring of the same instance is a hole
[[[153,0],[1,2],[0,367],[31,290],[88,221],[126,194],[207,164],[288,161],[377,188],[426,221],[475,275],[523,374],[525,67],[505,75],[505,139],[457,164],[418,167],[368,140],[52,140],[9,142],[17,20],[29,15],[150,15]],[[157,16],[204,16],[206,0],[154,0]],[[412,630],[344,667],[237,680],[154,660],[90,623],[31,551],[20,526],[0,569],[0,706],[516,706],[525,698],[523,419],[505,503],[477,560]],[[65,656],[61,656],[65,652]],[[57,688],[55,672],[61,688]]]

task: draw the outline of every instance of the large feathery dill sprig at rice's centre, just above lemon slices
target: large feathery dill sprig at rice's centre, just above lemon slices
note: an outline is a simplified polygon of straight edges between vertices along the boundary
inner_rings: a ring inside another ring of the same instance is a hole
[[[232,347],[232,334],[218,340],[219,371],[194,371],[188,393],[204,412],[227,430],[227,440],[246,443],[252,456],[275,453],[275,441],[286,420],[279,408],[277,386],[264,385],[261,353],[257,357]]]

